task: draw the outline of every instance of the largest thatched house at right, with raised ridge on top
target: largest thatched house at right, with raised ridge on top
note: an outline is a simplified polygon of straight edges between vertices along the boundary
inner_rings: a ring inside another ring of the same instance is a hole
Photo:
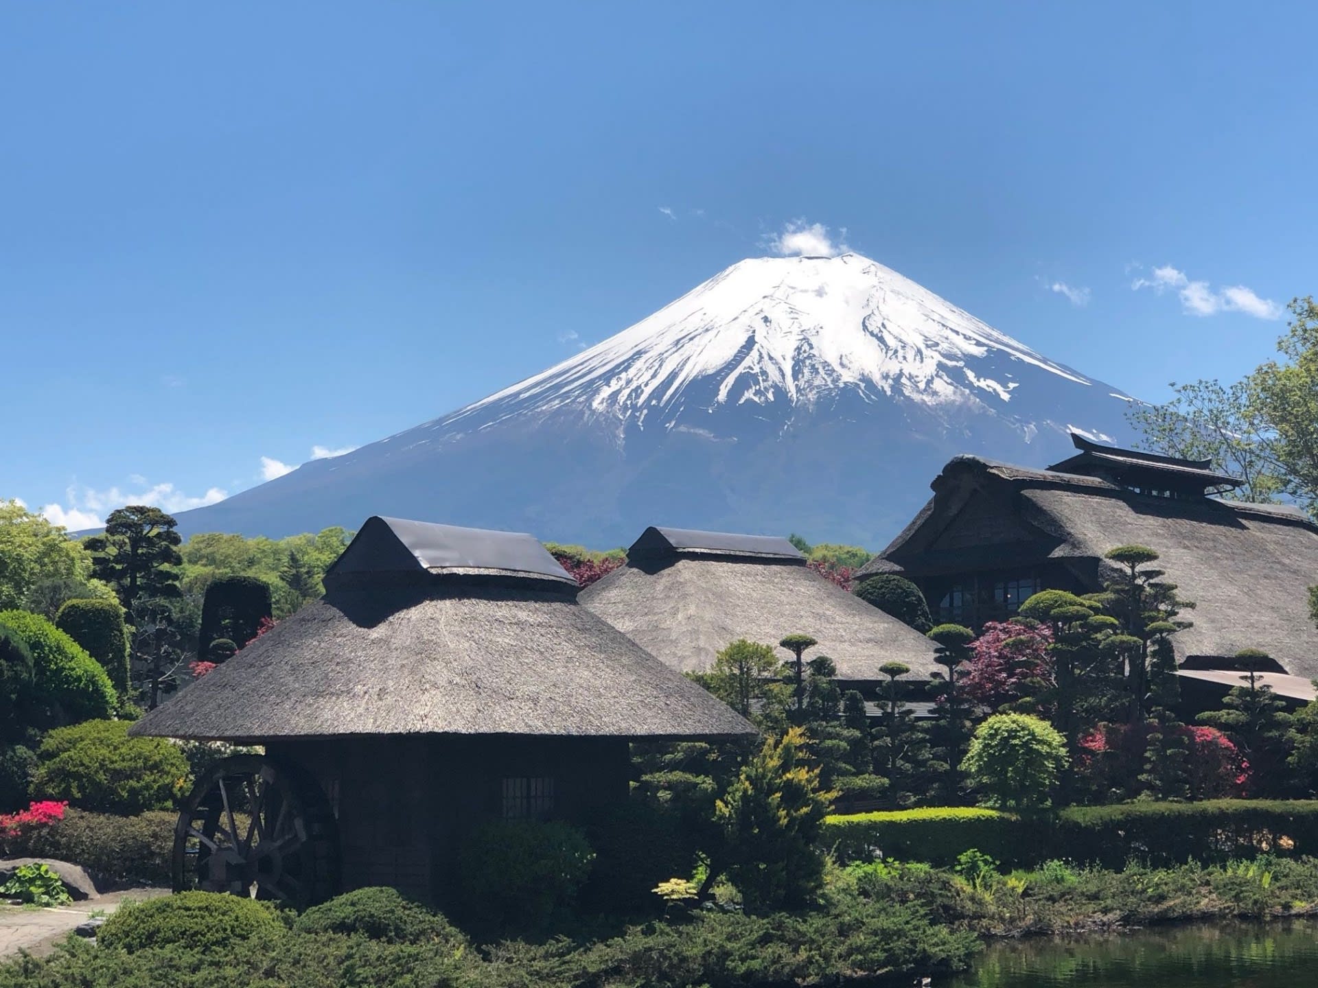
[[[1318,676],[1307,588],[1318,582],[1318,527],[1278,505],[1220,501],[1239,481],[1206,461],[1115,449],[1075,436],[1078,453],[1046,470],[960,456],[933,498],[858,577],[902,573],[946,620],[1002,619],[1044,588],[1099,589],[1103,555],[1123,544],[1159,565],[1197,607],[1173,638],[1191,668],[1261,648],[1277,672]]]

